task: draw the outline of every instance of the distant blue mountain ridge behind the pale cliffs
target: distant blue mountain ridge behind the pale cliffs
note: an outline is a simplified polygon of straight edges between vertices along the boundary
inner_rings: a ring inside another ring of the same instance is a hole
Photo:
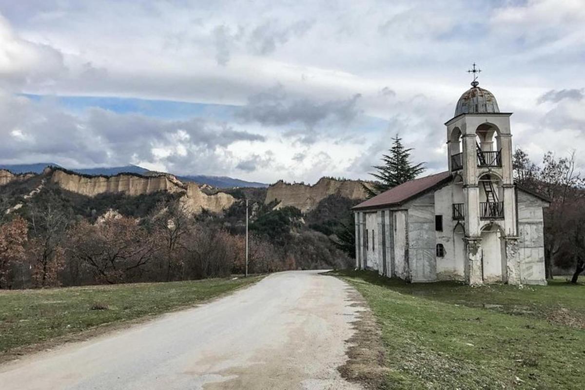
[[[36,164],[0,164],[0,170],[8,170],[14,174],[22,174],[27,172],[35,172],[40,174],[44,168],[52,165],[53,167],[62,167],[54,163],[36,163]],[[78,172],[86,175],[107,175],[113,176],[121,173],[135,173],[141,175],[149,174],[150,170],[139,167],[138,165],[124,165],[122,167],[97,167],[97,168],[67,168],[67,170]],[[198,184],[207,184],[218,188],[233,188],[233,187],[253,187],[253,188],[267,188],[266,183],[246,181],[227,176],[208,176],[208,175],[183,175],[176,176],[181,181],[191,181]]]

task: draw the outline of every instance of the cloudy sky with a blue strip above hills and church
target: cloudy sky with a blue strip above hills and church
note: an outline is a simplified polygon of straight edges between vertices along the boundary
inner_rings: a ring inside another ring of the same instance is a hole
[[[0,163],[314,183],[399,134],[438,172],[474,62],[585,167],[585,0],[0,0]]]

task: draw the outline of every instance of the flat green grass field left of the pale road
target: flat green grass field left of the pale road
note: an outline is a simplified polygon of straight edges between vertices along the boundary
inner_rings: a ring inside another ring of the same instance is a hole
[[[98,326],[191,306],[260,278],[0,291],[0,357]]]

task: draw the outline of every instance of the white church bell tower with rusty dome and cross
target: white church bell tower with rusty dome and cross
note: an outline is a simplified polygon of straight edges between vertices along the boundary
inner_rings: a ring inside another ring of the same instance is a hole
[[[519,283],[516,196],[512,175],[510,112],[479,87],[459,98],[447,127],[448,164],[454,177],[453,218],[464,227],[466,279]],[[457,216],[457,218],[456,218]]]

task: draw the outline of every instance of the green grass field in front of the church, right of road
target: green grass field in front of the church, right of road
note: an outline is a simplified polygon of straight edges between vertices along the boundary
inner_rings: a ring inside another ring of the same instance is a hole
[[[363,295],[381,327],[381,388],[585,388],[585,285],[471,288],[335,275]]]

